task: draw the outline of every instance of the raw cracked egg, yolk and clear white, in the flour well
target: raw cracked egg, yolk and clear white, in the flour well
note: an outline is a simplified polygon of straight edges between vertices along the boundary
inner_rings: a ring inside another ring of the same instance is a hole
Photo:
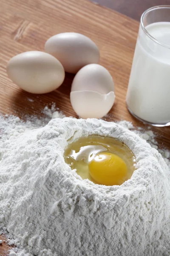
[[[135,156],[121,141],[91,135],[80,137],[65,149],[65,162],[82,179],[106,186],[121,185],[135,170]]]

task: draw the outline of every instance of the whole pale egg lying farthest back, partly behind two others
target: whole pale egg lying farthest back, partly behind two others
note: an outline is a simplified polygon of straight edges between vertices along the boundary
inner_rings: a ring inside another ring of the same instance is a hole
[[[45,52],[57,58],[66,72],[77,73],[82,67],[99,62],[99,49],[87,36],[65,32],[49,38]]]

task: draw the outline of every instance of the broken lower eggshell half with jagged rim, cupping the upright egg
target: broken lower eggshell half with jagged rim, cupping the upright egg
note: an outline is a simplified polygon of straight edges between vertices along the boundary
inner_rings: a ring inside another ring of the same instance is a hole
[[[74,91],[70,94],[71,105],[81,118],[102,118],[112,108],[115,94],[101,94],[95,91]]]

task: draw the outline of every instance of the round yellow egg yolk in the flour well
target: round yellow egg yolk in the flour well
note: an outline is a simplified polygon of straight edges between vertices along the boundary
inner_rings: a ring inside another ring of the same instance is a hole
[[[127,166],[124,160],[110,152],[95,154],[88,168],[91,177],[98,184],[121,185],[127,178]]]

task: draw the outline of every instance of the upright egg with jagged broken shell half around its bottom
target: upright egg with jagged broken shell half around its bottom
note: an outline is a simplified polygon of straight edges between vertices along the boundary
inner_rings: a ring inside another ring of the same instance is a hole
[[[115,93],[111,74],[99,64],[82,67],[74,77],[71,105],[81,118],[102,118],[112,108]]]

